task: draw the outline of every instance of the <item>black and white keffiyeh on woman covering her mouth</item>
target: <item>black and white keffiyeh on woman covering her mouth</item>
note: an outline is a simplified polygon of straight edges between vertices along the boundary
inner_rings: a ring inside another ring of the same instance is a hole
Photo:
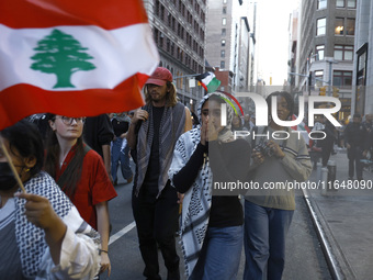
[[[201,123],[202,107],[205,101],[213,94],[226,98],[225,96],[219,93],[206,94],[201,100],[197,109],[197,114]],[[231,120],[233,109],[227,105],[227,126],[219,133],[218,141],[226,142],[231,139]],[[187,165],[200,142],[200,125],[196,128],[193,128],[180,136],[174,147],[173,159],[169,170],[171,184],[173,176]],[[213,173],[210,168],[208,157],[205,155],[204,164],[199,171],[193,186],[184,193],[184,199],[182,203],[180,232],[187,277],[191,276],[197,262],[203,240],[206,235],[210,210],[212,204],[212,184]]]

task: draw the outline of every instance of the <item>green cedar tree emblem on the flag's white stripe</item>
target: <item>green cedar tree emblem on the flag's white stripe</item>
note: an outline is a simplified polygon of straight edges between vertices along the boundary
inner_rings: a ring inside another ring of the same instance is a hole
[[[83,53],[87,47],[82,47],[75,37],[59,30],[52,31],[50,35],[37,42],[34,51],[38,52],[31,59],[36,60],[31,65],[31,69],[42,72],[55,74],[57,83],[55,88],[75,88],[70,82],[71,75],[76,71],[93,70],[95,66],[88,59],[92,56]]]

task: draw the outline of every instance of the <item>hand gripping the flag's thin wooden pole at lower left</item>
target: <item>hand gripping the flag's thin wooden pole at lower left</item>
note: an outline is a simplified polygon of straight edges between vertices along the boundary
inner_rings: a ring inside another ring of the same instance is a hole
[[[53,210],[48,199],[32,193],[15,193],[14,195],[26,200],[24,214],[27,221],[37,227],[47,231],[61,221]]]

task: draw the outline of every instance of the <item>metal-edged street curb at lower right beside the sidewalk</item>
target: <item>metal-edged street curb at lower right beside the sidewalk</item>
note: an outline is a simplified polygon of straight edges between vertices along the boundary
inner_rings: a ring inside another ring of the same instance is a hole
[[[328,222],[325,220],[317,203],[312,199],[312,195],[309,195],[305,189],[303,189],[303,198],[312,217],[323,254],[329,267],[331,278],[334,280],[355,280],[357,277],[337,240],[335,239],[328,226]]]

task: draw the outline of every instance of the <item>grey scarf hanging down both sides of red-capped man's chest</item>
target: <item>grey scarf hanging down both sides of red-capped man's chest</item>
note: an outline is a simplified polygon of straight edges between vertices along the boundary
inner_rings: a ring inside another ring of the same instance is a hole
[[[136,195],[144,182],[150,158],[154,138],[152,105],[143,108],[149,113],[148,121],[143,122],[137,135],[137,186]],[[171,165],[174,144],[185,127],[185,107],[180,102],[174,107],[165,107],[159,126],[159,179],[158,195],[168,180],[168,169]]]

